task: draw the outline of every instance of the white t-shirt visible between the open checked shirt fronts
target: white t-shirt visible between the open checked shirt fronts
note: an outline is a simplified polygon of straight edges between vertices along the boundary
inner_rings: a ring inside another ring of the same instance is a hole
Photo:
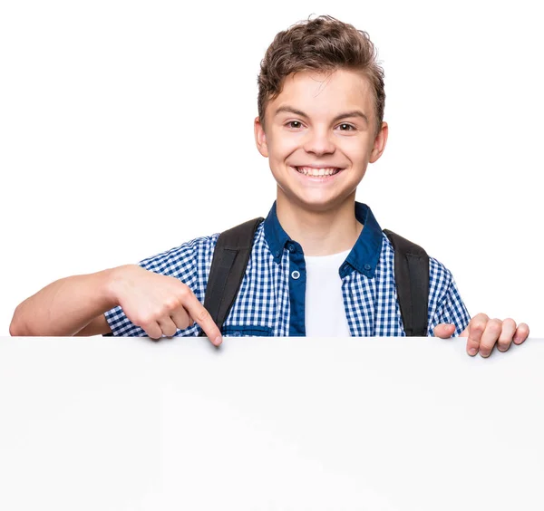
[[[307,337],[350,336],[338,273],[349,253],[305,255]]]

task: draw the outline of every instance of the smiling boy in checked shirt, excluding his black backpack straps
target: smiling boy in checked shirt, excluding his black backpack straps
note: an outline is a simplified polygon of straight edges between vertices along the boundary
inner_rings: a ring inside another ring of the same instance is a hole
[[[367,34],[328,16],[277,34],[258,76],[257,149],[277,201],[257,227],[238,297],[223,324],[234,335],[403,335],[393,246],[355,202],[368,163],[384,152],[384,73]],[[198,335],[216,345],[203,307],[219,235],[46,286],[15,310],[12,335]],[[430,259],[428,334],[468,337],[489,356],[529,327],[468,315],[452,274]],[[195,323],[196,322],[196,323]]]

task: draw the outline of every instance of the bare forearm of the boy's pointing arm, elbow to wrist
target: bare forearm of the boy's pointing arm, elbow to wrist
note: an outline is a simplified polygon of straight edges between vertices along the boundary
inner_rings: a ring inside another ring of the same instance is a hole
[[[117,305],[112,280],[121,267],[53,282],[15,309],[10,333],[15,336],[74,335]]]

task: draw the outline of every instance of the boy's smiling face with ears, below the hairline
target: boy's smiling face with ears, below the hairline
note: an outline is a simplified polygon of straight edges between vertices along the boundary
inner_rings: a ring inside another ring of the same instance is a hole
[[[385,123],[376,134],[369,83],[345,70],[288,76],[267,104],[265,123],[266,131],[255,120],[255,137],[269,159],[278,200],[312,211],[353,200],[366,166],[380,158],[387,140]]]

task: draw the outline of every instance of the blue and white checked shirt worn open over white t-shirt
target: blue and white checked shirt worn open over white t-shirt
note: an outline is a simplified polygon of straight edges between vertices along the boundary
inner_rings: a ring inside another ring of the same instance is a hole
[[[393,246],[370,207],[355,203],[355,217],[364,225],[355,246],[339,268],[345,316],[353,336],[403,336],[403,320],[394,282]],[[204,303],[206,284],[218,234],[193,239],[168,252],[141,261],[141,267],[170,275],[187,284]],[[456,325],[459,335],[470,321],[451,272],[430,257],[428,335],[439,323]],[[274,203],[257,227],[246,275],[223,324],[224,335],[306,335],[306,264],[302,247],[287,236]],[[113,335],[145,336],[121,307],[105,313]],[[195,336],[199,324],[178,330]]]

